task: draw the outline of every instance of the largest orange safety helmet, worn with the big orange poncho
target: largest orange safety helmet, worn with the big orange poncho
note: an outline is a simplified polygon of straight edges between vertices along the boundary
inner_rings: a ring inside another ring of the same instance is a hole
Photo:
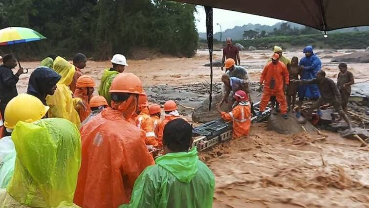
[[[145,94],[141,80],[133,73],[119,73],[111,83],[109,93]]]

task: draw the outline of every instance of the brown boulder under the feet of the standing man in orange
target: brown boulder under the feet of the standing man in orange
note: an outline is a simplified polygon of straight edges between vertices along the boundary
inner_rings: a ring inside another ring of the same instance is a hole
[[[266,130],[275,131],[279,134],[297,134],[304,131],[302,126],[304,126],[307,132],[315,131],[314,126],[310,122],[305,124],[298,123],[298,119],[292,113],[288,114],[288,119],[284,119],[281,114],[272,114],[268,118]]]

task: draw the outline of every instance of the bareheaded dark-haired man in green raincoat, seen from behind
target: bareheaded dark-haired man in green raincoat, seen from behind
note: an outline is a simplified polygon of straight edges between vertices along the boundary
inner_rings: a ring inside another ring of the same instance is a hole
[[[180,134],[178,134],[180,133]],[[165,126],[163,156],[134,183],[130,204],[120,208],[212,208],[215,180],[192,147],[192,126],[174,119]]]

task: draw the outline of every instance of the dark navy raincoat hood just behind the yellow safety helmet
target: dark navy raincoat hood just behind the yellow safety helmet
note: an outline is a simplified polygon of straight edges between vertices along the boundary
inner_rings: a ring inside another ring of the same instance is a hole
[[[47,67],[35,69],[28,81],[27,94],[39,98],[46,105],[47,93],[59,82],[61,75]]]

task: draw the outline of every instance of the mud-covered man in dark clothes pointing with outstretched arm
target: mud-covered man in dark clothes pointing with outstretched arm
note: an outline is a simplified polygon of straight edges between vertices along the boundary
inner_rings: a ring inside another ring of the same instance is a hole
[[[319,97],[319,99],[315,101],[314,104],[307,111],[306,118],[303,122],[306,122],[306,120],[310,119],[311,114],[315,109],[318,109],[320,106],[329,103],[333,106],[334,110],[336,110],[340,114],[340,116],[344,118],[349,130],[351,131],[351,123],[348,120],[348,116],[346,115],[345,111],[342,109],[341,94],[338,91],[336,84],[334,84],[334,81],[332,79],[326,78],[326,72],[324,70],[320,70],[317,73],[317,78],[315,79],[291,80],[291,82],[296,82],[299,85],[315,84],[318,86],[319,92],[321,94],[321,97]]]

